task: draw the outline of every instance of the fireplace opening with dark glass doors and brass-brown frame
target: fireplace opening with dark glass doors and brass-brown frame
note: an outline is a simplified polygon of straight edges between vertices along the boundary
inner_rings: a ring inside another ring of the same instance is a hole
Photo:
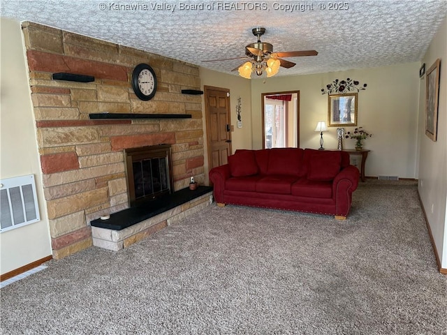
[[[173,192],[170,144],[125,149],[124,151],[131,207]]]

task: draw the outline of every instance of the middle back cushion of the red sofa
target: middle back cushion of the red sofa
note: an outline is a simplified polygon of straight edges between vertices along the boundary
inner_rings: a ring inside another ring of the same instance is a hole
[[[298,177],[301,170],[302,154],[303,150],[298,148],[270,149],[268,174]]]

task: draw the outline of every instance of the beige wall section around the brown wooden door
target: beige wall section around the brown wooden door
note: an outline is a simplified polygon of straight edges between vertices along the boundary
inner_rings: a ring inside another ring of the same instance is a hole
[[[251,149],[251,82],[236,75],[228,75],[226,73],[219,73],[206,68],[200,68],[200,82],[202,83],[202,89],[204,86],[220,87],[230,90],[230,121],[234,126],[234,131],[231,133],[232,150],[233,153],[237,149]],[[237,98],[241,98],[241,110],[240,113],[242,119],[242,128],[237,128]],[[202,99],[203,101],[203,99]],[[203,101],[205,104],[205,101]],[[203,105],[203,124],[205,121],[205,105]],[[205,145],[206,145],[206,132]],[[205,152],[207,148],[205,147]],[[205,171],[208,170],[208,162],[205,156]],[[206,176],[206,178],[208,178]],[[207,179],[208,181],[208,179]]]

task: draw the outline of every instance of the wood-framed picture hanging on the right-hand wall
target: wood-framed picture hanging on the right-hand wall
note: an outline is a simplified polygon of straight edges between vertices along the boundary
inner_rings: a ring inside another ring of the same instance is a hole
[[[425,76],[425,135],[435,142],[437,140],[440,64],[441,60],[437,59]]]

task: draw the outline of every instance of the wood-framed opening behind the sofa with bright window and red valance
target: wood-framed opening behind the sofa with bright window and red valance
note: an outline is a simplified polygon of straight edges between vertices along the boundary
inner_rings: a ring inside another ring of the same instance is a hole
[[[300,91],[261,94],[263,148],[300,145]]]

